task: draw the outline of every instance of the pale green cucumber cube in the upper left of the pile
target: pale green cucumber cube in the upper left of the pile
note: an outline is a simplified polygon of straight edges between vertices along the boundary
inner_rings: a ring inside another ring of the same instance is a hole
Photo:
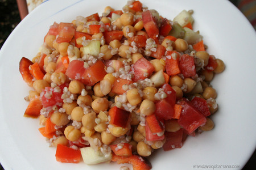
[[[90,54],[92,56],[98,56],[100,53],[100,46],[101,41],[100,40],[92,40],[90,43],[86,46],[82,46],[80,48],[80,51],[85,54]]]

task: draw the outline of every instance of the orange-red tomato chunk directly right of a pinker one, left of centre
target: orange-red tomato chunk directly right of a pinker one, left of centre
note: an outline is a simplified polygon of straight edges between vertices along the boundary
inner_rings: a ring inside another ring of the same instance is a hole
[[[86,86],[93,86],[102,80],[107,74],[104,67],[105,65],[101,60],[98,60],[92,66],[88,67],[82,74],[82,83],[84,83]]]

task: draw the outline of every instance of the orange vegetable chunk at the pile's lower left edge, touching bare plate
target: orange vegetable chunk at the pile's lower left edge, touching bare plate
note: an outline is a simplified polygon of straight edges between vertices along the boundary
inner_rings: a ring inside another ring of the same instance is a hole
[[[39,97],[34,97],[30,100],[27,109],[24,113],[24,117],[38,117],[40,115],[40,110],[43,108],[42,101]]]

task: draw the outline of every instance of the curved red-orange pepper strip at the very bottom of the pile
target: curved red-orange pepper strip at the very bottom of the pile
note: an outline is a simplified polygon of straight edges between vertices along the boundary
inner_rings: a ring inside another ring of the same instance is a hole
[[[113,157],[111,159],[113,162],[117,162],[117,164],[126,164],[129,163],[133,165],[133,170],[150,170],[152,168],[152,165],[146,158],[142,158],[142,156],[139,155],[132,155],[129,157],[125,156],[118,156],[113,154]]]

